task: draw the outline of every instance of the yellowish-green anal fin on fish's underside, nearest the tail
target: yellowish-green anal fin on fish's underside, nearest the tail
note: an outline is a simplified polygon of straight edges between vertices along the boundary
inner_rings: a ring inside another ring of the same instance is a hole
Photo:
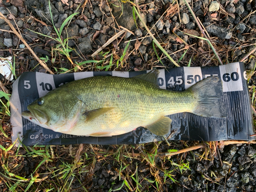
[[[162,136],[170,131],[170,123],[172,123],[172,119],[163,116],[154,123],[146,125],[145,127],[152,133]]]

